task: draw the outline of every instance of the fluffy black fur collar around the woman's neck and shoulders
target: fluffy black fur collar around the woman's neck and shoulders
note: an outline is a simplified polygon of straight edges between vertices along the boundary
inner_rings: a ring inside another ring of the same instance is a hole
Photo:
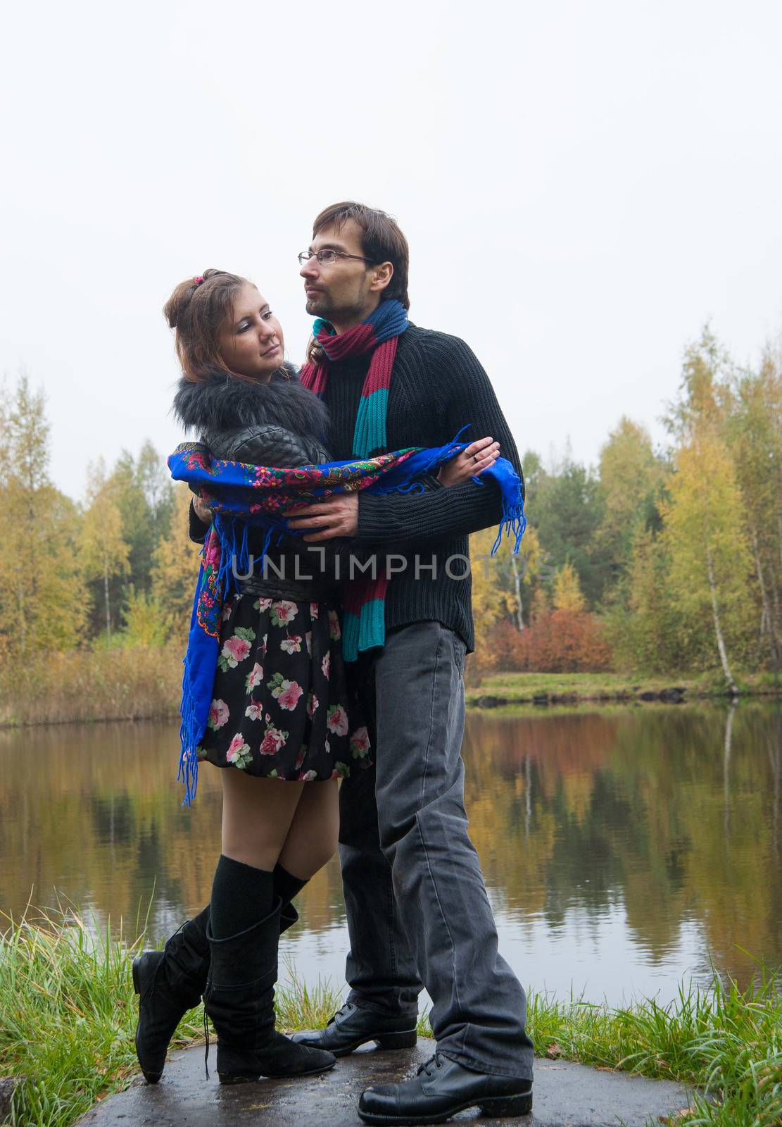
[[[185,429],[201,434],[270,423],[308,437],[326,438],[325,403],[301,385],[296,369],[287,363],[285,374],[275,372],[269,383],[248,383],[217,372],[202,383],[183,376],[172,410]]]

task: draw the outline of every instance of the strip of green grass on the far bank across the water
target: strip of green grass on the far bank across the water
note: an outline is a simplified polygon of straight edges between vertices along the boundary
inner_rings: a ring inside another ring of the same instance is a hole
[[[763,695],[782,692],[782,680],[773,673],[747,673],[737,678],[741,694]],[[490,673],[480,685],[470,685],[466,702],[481,696],[501,696],[508,704],[532,703],[533,696],[545,693],[568,700],[612,701],[638,700],[641,693],[659,693],[681,687],[690,700],[726,695],[725,680],[716,673],[666,674],[665,676],[630,676],[622,673]]]

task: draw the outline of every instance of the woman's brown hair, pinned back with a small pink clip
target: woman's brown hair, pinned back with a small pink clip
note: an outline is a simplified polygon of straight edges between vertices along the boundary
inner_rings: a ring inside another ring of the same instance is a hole
[[[201,277],[181,282],[163,305],[163,317],[169,328],[176,330],[175,345],[183,374],[190,383],[207,380],[215,369],[238,380],[247,379],[226,367],[219,346],[220,329],[243,285],[248,281],[238,274],[204,270]]]

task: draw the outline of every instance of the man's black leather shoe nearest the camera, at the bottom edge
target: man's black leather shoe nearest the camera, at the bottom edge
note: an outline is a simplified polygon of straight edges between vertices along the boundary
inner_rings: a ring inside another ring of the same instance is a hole
[[[367,1088],[358,1115],[365,1124],[442,1124],[476,1107],[491,1119],[525,1116],[532,1111],[532,1081],[472,1072],[435,1053],[412,1080]]]

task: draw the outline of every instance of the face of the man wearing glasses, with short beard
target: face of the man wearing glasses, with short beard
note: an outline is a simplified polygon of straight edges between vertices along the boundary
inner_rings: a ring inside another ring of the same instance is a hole
[[[339,250],[347,255],[364,254],[362,229],[348,220],[339,229],[323,227],[310,243],[310,250]],[[306,312],[327,321],[361,321],[377,304],[380,294],[372,290],[375,270],[370,263],[357,258],[340,258],[321,264],[311,258],[299,272],[304,278]]]

